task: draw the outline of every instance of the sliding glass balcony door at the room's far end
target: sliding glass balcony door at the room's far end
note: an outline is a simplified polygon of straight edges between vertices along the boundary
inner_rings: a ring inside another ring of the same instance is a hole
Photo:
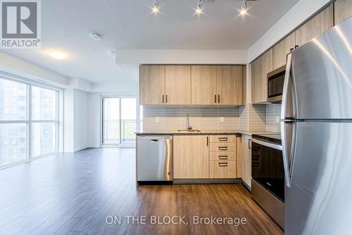
[[[137,130],[135,97],[103,96],[103,145],[132,146]]]

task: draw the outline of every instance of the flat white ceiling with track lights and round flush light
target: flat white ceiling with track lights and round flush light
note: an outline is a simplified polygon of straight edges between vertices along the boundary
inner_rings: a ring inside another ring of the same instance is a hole
[[[2,50],[66,77],[89,82],[137,82],[138,65],[116,65],[112,49],[249,49],[298,0],[249,1],[249,15],[238,16],[240,1],[215,0],[194,15],[197,0],[45,0],[42,49]],[[103,35],[93,41],[89,32]],[[56,61],[50,49],[68,53]]]

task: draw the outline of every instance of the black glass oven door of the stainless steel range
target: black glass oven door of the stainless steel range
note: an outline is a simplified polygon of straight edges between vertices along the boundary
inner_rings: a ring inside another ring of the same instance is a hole
[[[252,178],[284,203],[282,146],[252,139]]]

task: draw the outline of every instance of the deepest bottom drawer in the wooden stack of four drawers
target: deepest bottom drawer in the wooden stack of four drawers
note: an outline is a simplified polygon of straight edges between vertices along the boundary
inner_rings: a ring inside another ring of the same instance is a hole
[[[210,178],[236,178],[236,161],[210,160]]]

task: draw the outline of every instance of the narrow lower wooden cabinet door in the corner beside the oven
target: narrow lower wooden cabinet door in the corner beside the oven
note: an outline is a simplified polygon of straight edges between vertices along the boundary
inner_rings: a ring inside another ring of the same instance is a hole
[[[251,187],[251,179],[252,179],[252,173],[251,173],[251,146],[250,146],[250,139],[251,136],[247,135],[242,135],[241,136],[241,163],[242,163],[242,180]],[[239,166],[240,167],[240,166]]]

